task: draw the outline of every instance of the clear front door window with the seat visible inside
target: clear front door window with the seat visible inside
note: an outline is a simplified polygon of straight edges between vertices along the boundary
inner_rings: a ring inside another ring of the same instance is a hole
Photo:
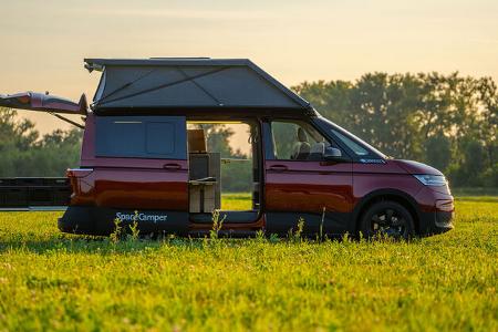
[[[325,137],[304,122],[274,121],[271,132],[273,158],[278,160],[320,160],[325,148],[331,146]]]

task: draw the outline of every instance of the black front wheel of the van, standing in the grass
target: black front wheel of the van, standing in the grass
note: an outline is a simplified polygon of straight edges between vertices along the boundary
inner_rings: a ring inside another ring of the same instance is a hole
[[[367,239],[408,240],[415,234],[415,226],[412,214],[404,206],[384,200],[374,203],[362,214],[360,231]]]

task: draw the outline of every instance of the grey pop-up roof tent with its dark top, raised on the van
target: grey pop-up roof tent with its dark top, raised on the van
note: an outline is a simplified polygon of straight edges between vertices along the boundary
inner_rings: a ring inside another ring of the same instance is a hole
[[[93,108],[287,108],[310,104],[249,60],[85,59],[102,71]]]

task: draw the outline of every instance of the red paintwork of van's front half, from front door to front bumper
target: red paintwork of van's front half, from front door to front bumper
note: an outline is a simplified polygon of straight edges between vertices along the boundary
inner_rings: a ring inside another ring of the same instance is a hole
[[[266,207],[272,211],[321,212],[325,207],[328,211],[352,212],[369,194],[394,189],[413,197],[422,211],[453,211],[453,197],[447,187],[423,186],[403,169],[402,163],[326,165],[320,162],[267,160]],[[271,170],[271,166],[287,166],[288,169]],[[412,170],[430,174],[424,169]],[[436,208],[436,201],[439,208]]]

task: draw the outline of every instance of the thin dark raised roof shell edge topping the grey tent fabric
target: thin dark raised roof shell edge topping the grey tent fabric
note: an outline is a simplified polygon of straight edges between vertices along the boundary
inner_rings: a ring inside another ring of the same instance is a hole
[[[270,84],[283,92],[288,97],[301,107],[313,110],[313,106],[290,89],[273,79],[270,74],[259,68],[249,59],[210,59],[210,58],[152,58],[152,59],[84,59],[85,68],[103,71],[105,66],[112,65],[219,65],[219,66],[248,66]]]

